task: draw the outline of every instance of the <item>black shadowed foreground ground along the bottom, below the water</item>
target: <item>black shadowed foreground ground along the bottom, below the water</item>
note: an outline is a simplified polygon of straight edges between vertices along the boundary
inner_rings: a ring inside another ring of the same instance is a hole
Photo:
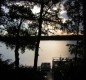
[[[0,80],[86,80],[83,68],[55,69],[54,71],[34,71],[30,68],[0,68]]]

